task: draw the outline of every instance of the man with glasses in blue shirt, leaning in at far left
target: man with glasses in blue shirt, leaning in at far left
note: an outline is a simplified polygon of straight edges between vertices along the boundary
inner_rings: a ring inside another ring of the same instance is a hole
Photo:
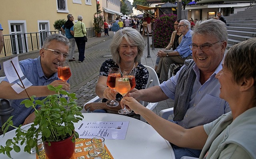
[[[19,62],[24,76],[32,83],[32,86],[26,90],[30,96],[36,96],[35,100],[42,100],[47,95],[55,94],[54,91],[47,88],[49,84],[55,87],[62,85],[63,89],[70,90],[70,85],[60,80],[57,74],[57,63],[65,61],[69,56],[69,44],[69,40],[65,36],[52,34],[45,39],[38,58]],[[16,93],[7,78],[0,83],[0,88],[4,90],[0,91],[0,98],[11,99],[10,105],[14,108],[11,114],[14,115],[12,118],[14,126],[18,127],[20,124],[32,123],[35,118],[34,109],[26,108],[24,104],[20,105],[21,101],[28,98],[26,92]],[[37,106],[36,109],[40,109],[40,106]],[[0,121],[1,127],[2,123]]]

